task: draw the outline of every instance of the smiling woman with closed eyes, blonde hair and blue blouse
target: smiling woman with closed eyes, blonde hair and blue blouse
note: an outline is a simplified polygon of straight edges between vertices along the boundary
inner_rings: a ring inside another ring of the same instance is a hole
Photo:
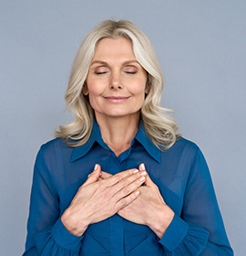
[[[76,120],[37,157],[24,255],[232,255],[210,172],[159,106],[149,39],[98,25],[67,88]]]

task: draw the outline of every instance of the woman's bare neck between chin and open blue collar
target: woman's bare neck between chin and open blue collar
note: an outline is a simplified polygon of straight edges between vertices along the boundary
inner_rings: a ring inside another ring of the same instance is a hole
[[[138,116],[124,118],[96,116],[97,123],[102,134],[103,141],[113,150],[115,155],[120,155],[127,150],[136,133],[138,132]]]

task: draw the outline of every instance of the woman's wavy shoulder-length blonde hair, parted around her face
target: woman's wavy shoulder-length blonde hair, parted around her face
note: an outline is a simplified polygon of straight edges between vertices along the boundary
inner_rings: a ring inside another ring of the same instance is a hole
[[[141,108],[145,131],[153,144],[160,149],[169,148],[176,142],[178,126],[171,112],[160,106],[164,82],[159,61],[149,38],[127,20],[103,21],[85,37],[78,48],[65,96],[67,108],[75,114],[76,119],[72,123],[59,126],[56,136],[65,138],[67,143],[72,140],[71,146],[87,143],[92,131],[94,111],[82,90],[97,44],[107,37],[127,37],[132,41],[136,59],[148,72],[149,93]]]

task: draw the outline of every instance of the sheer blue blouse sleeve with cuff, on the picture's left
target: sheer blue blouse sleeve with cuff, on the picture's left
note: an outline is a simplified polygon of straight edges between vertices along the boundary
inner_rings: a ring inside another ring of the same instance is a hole
[[[23,255],[79,255],[83,237],[73,236],[60,219],[59,197],[46,166],[42,147],[36,156]],[[44,214],[45,213],[45,214]]]

